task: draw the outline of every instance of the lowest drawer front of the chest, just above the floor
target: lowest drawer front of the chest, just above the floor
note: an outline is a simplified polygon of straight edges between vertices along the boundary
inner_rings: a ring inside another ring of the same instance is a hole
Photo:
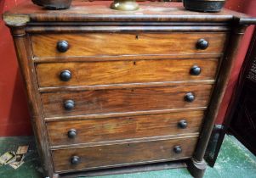
[[[122,164],[142,164],[190,158],[196,146],[196,141],[197,137],[190,137],[53,150],[54,170],[57,172],[89,170],[100,167],[121,166]],[[179,147],[181,148],[180,153],[177,152]]]

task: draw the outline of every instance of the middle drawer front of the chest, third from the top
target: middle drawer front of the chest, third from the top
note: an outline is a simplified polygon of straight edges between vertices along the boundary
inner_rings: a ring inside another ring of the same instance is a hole
[[[208,105],[212,85],[108,89],[43,93],[46,117],[109,114]],[[194,97],[193,101],[188,99]]]

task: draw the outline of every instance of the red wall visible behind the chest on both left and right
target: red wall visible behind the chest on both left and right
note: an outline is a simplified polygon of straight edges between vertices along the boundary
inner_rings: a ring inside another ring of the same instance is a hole
[[[1,14],[23,1],[26,0],[0,0]],[[256,12],[253,12],[253,9],[256,9],[255,0],[229,0],[225,4],[225,7],[256,16]],[[225,110],[230,102],[231,93],[247,51],[252,31],[252,27],[249,28],[242,41],[236,67],[232,72],[232,77],[219,112],[218,123],[222,123],[224,120]],[[0,136],[31,135],[32,131],[26,105],[26,95],[16,62],[14,45],[9,34],[9,29],[3,24],[2,19],[0,19],[0,36],[2,37],[0,40]]]

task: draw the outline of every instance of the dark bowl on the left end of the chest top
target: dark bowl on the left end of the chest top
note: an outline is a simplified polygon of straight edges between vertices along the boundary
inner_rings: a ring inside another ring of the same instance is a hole
[[[32,0],[32,2],[44,8],[60,10],[70,8],[72,0]]]

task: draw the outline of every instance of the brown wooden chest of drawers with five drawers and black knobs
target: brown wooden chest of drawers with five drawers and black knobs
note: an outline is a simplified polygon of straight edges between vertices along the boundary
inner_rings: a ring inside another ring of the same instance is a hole
[[[45,175],[185,161],[202,177],[237,46],[254,19],[179,3],[117,12],[109,3],[63,11],[24,3],[3,14]]]

